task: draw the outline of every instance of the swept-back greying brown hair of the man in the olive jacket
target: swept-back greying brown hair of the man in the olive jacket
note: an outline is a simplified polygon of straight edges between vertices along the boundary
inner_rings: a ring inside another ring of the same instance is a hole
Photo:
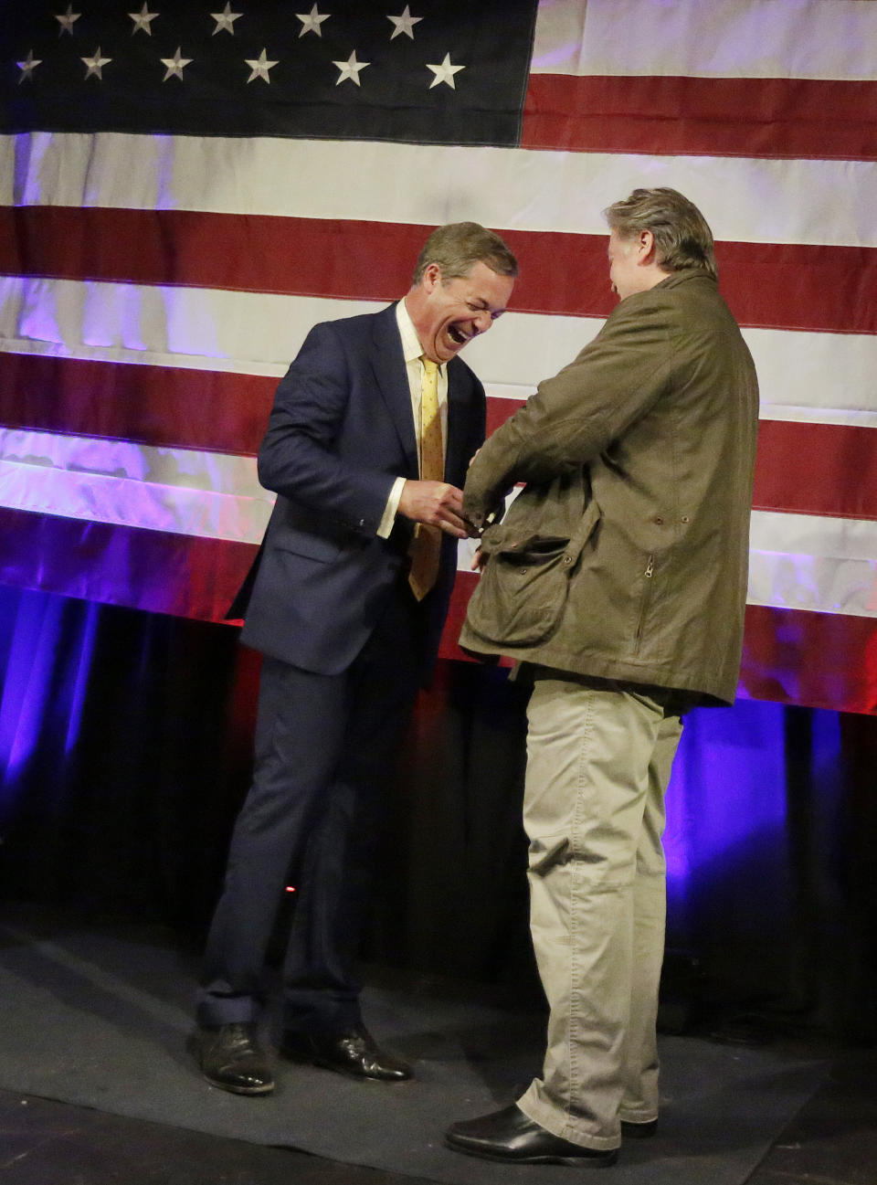
[[[608,206],[603,217],[620,238],[651,230],[661,270],[699,268],[717,277],[712,231],[694,203],[678,190],[634,190],[629,198]]]

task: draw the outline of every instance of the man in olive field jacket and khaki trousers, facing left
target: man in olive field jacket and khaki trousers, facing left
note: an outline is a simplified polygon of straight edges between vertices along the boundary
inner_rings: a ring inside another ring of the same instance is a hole
[[[542,1077],[455,1123],[460,1152],[612,1164],[658,1117],[664,793],[697,703],[732,703],[757,384],[712,235],[674,190],[606,211],[621,297],[493,434],[466,481],[482,534],[461,645],[521,660],[531,929],[550,1004]]]

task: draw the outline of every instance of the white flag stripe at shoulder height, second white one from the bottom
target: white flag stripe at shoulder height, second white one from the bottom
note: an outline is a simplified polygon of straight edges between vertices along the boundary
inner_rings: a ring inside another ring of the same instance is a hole
[[[12,352],[43,342],[69,357],[243,373],[267,373],[269,366],[268,372],[283,373],[318,321],[377,307],[373,301],[11,276],[0,280],[0,339]],[[594,318],[507,313],[467,346],[466,359],[482,382],[517,389],[525,398],[571,361],[601,325]],[[766,416],[777,408],[812,406],[822,422],[845,423],[851,412],[873,411],[877,337],[779,329],[747,329],[744,337]]]

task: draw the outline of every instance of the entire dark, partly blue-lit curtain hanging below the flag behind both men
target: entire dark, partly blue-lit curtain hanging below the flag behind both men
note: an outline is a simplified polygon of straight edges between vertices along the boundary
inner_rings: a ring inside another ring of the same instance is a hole
[[[258,656],[231,627],[0,587],[0,677],[6,897],[200,942],[249,783]],[[504,671],[440,664],[388,771],[370,959],[538,998],[525,702]],[[873,717],[689,716],[666,833],[684,1020],[875,1038],[876,771]]]

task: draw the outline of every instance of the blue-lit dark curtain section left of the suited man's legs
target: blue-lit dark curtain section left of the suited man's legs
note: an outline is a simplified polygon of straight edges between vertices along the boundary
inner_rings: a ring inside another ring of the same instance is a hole
[[[247,789],[237,630],[0,587],[0,884],[197,928]]]

